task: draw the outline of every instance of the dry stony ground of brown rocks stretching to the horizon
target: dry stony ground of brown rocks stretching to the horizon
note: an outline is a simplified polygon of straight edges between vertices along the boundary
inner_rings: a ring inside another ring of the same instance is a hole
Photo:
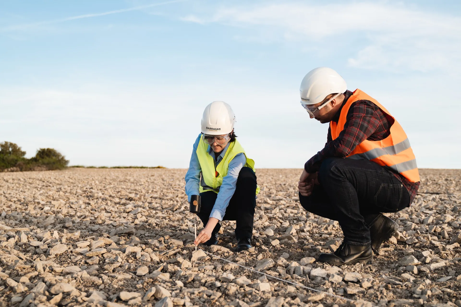
[[[372,265],[313,262],[342,241],[301,208],[300,170],[259,169],[255,248],[235,222],[203,250],[354,303],[195,252],[184,169],[0,174],[0,306],[461,306],[461,170],[421,170],[414,204]]]

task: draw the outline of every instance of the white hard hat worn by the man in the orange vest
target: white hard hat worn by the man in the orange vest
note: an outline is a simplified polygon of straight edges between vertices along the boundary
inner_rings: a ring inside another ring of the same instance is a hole
[[[326,96],[346,90],[346,81],[335,70],[318,67],[309,71],[301,81],[301,104],[318,104]]]

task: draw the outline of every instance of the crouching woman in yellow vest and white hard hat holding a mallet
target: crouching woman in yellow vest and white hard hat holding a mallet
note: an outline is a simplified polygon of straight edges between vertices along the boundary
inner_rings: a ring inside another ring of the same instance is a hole
[[[236,220],[237,251],[241,251],[251,247],[259,187],[254,161],[247,158],[236,140],[234,123],[235,115],[229,104],[214,101],[207,105],[190,158],[185,191],[191,212],[205,226],[195,245],[218,244],[219,221]]]

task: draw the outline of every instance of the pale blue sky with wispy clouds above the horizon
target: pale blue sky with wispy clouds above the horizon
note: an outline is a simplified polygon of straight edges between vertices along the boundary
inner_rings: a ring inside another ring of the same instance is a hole
[[[402,124],[419,167],[461,168],[460,1],[2,1],[0,141],[71,165],[187,168],[231,104],[258,168],[302,168],[328,126],[299,85],[337,70]]]

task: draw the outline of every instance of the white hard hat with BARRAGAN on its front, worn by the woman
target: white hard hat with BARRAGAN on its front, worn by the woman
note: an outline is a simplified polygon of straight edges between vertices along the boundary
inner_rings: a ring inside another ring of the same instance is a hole
[[[203,111],[202,133],[221,135],[231,133],[234,129],[235,115],[229,104],[224,101],[213,101]]]

